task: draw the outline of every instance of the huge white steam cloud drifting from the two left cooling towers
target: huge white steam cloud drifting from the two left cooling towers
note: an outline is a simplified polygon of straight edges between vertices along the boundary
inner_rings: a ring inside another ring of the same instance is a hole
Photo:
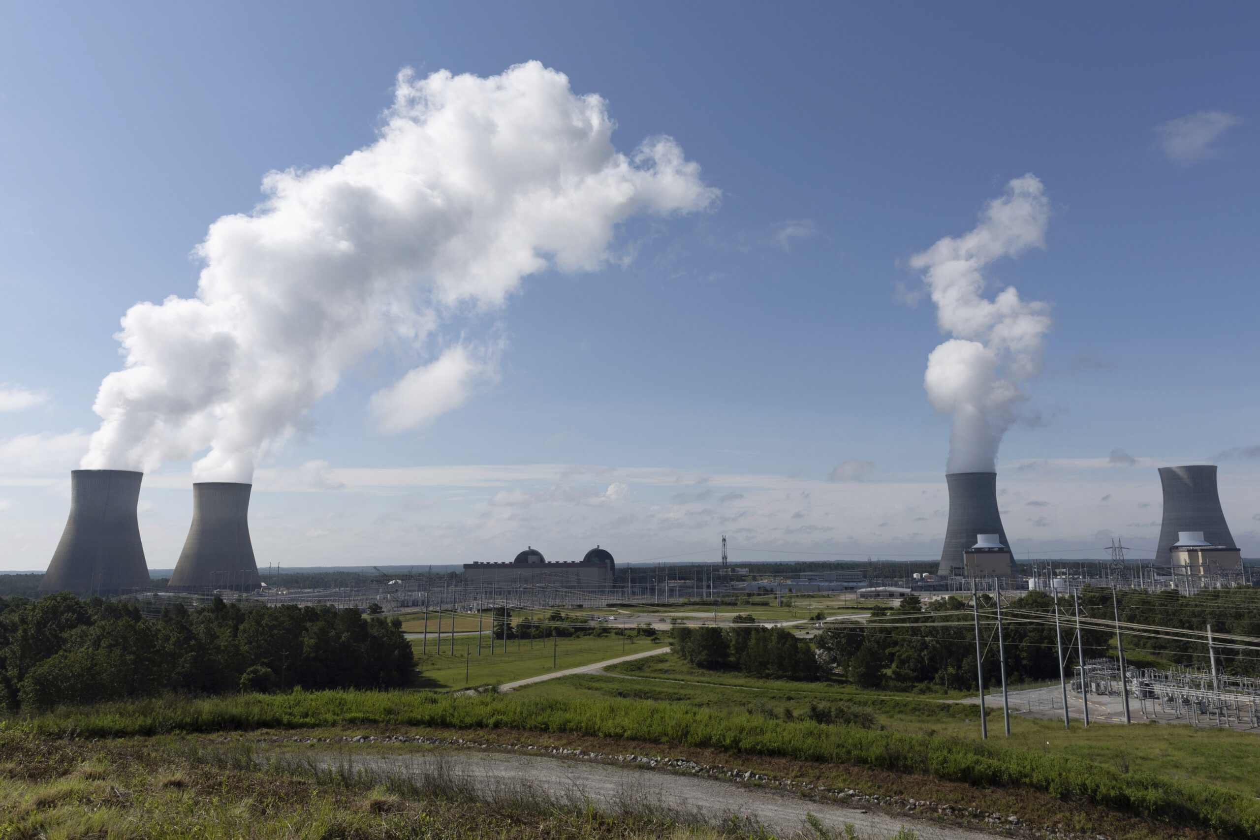
[[[669,137],[630,156],[595,94],[537,62],[479,78],[398,74],[372,145],[334,166],[270,173],[253,213],[210,225],[197,297],[122,319],[87,468],[152,470],[204,453],[195,480],[255,465],[367,354],[422,360],[372,399],[398,432],[459,408],[495,377],[495,345],[441,345],[459,314],[503,305],[527,275],[592,271],[617,223],[712,205]],[[427,353],[426,353],[427,351]]]

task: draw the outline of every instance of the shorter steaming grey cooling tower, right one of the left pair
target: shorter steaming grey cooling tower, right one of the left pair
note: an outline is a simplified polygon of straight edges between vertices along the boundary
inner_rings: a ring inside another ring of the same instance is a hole
[[[252,485],[204,481],[193,485],[193,525],[168,589],[253,591],[262,583],[249,542]]]

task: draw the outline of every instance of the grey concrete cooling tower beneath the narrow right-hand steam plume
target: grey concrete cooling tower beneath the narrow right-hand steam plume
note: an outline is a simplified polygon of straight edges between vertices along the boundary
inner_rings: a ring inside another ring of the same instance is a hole
[[[941,577],[1016,577],[1014,555],[998,513],[997,472],[950,472],[949,523],[941,549]],[[980,536],[995,536],[993,545],[980,547]],[[975,553],[980,547],[984,550]],[[965,554],[971,552],[970,562]]]

